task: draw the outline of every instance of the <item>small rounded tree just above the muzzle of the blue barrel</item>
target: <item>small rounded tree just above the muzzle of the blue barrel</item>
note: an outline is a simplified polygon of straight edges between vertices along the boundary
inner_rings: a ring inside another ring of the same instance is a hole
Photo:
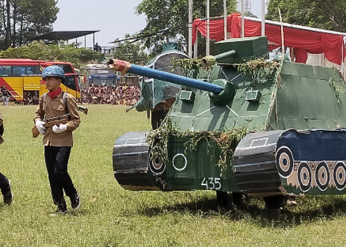
[[[126,34],[125,39],[129,38],[130,34]],[[113,55],[117,59],[129,61],[133,64],[145,64],[148,61],[148,54],[144,52],[145,47],[139,41],[127,40],[123,42],[116,42],[114,48]]]

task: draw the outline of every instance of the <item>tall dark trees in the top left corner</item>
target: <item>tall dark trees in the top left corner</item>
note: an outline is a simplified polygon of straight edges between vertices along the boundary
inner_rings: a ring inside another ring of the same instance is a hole
[[[19,46],[30,37],[51,31],[59,12],[56,3],[56,0],[1,0],[0,49]]]

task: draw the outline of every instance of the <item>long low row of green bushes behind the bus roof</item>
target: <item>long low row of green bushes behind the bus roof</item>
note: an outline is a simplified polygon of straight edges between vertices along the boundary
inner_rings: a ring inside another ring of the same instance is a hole
[[[0,51],[0,58],[30,58],[34,60],[70,62],[75,68],[80,68],[91,60],[97,60],[101,53],[85,47],[76,48],[71,44],[44,44],[43,41],[33,41],[17,48],[9,47]]]

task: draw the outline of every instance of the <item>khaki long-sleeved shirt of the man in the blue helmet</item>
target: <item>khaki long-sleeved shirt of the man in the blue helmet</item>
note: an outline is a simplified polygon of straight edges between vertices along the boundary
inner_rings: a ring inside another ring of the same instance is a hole
[[[34,123],[37,120],[48,119],[52,117],[61,116],[69,113],[69,117],[65,117],[65,120],[54,121],[45,124],[45,132],[43,136],[44,146],[55,146],[55,147],[72,147],[73,137],[72,131],[75,130],[80,124],[80,117],[78,114],[78,107],[76,103],[76,98],[67,93],[67,106],[63,102],[64,93],[61,92],[58,96],[51,99],[48,94],[46,94],[44,101],[42,96],[39,100],[39,106],[36,110]],[[68,111],[67,111],[68,110]],[[67,129],[61,133],[54,133],[52,126],[55,124],[66,124]]]

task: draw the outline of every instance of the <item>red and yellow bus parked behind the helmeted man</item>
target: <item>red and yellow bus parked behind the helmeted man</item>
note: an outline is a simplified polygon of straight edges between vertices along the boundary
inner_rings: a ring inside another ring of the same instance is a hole
[[[65,72],[63,91],[80,98],[78,74],[71,63],[32,60],[27,58],[0,59],[0,86],[6,86],[11,100],[23,101],[26,95],[40,97],[47,92],[45,81],[41,80],[42,68],[58,65]]]

